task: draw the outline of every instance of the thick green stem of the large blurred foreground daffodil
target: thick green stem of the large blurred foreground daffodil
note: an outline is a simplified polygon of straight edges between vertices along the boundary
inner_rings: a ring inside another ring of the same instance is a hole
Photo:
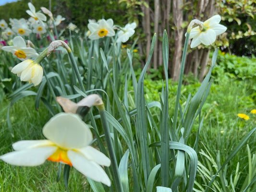
[[[108,122],[106,119],[106,115],[105,115],[104,105],[98,106],[98,109],[99,109],[99,115],[101,118],[105,138],[106,138],[109,153],[110,153],[111,167],[112,167],[113,173],[114,173],[113,179],[114,179],[114,183],[116,185],[116,191],[123,192],[122,183],[121,183],[121,179],[120,179],[120,175],[119,175],[119,171],[118,171],[116,155],[114,152],[114,147],[113,147],[113,143],[112,143],[111,136],[110,136],[110,129],[109,129],[109,125],[108,125]]]

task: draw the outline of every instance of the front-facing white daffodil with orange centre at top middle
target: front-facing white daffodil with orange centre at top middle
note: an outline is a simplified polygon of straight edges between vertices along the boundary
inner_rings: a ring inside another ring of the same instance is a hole
[[[113,30],[113,20],[108,19],[107,21],[105,19],[101,19],[98,23],[89,22],[88,29],[91,31],[91,35],[89,35],[89,38],[99,39],[104,36],[114,36],[115,31]]]

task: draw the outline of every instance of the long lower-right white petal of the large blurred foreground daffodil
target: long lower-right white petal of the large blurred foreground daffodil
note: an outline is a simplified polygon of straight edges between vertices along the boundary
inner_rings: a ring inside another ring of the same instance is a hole
[[[75,169],[92,180],[111,185],[110,178],[96,162],[88,161],[84,156],[72,150],[68,151],[68,157]]]

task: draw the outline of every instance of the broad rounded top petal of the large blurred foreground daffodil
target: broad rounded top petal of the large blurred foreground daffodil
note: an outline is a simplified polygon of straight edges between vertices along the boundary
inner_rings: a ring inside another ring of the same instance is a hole
[[[92,132],[78,115],[59,113],[43,127],[44,136],[65,149],[87,146],[92,141]]]

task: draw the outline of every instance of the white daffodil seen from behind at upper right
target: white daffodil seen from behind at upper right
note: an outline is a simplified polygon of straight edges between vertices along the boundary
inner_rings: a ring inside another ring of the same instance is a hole
[[[190,47],[195,48],[201,43],[211,45],[216,40],[216,36],[227,30],[226,26],[219,24],[220,20],[220,15],[214,15],[205,22],[201,22],[201,25],[192,28],[189,36],[193,38]]]

